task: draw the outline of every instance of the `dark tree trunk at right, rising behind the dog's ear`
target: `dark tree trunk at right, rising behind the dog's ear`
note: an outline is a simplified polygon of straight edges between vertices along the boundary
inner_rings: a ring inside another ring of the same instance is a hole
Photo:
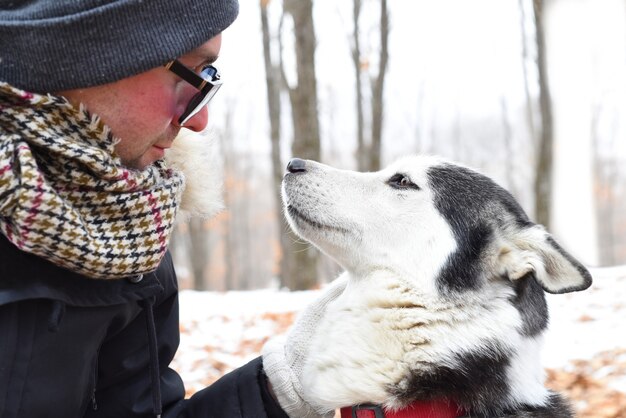
[[[541,134],[537,149],[535,178],[535,220],[550,229],[550,200],[552,196],[553,125],[552,104],[548,87],[546,45],[543,27],[543,0],[533,0],[537,37],[537,68],[539,73],[539,109]]]

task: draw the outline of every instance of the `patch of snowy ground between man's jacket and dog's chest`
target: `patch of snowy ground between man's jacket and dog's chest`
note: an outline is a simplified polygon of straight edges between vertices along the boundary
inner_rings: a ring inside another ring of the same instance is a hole
[[[173,367],[188,394],[258,356],[263,343],[284,333],[317,293],[181,291],[181,341]]]

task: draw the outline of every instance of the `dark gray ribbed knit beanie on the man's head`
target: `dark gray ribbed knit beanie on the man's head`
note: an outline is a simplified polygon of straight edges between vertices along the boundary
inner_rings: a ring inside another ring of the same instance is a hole
[[[0,81],[47,93],[126,78],[184,55],[237,0],[0,0]]]

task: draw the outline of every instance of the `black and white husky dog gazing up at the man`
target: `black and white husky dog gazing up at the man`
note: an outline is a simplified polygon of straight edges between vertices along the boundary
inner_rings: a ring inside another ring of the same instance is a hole
[[[348,280],[313,336],[308,401],[379,405],[376,417],[414,401],[452,416],[573,416],[543,384],[544,291],[591,276],[507,191],[413,156],[374,173],[293,159],[282,193],[294,231]]]

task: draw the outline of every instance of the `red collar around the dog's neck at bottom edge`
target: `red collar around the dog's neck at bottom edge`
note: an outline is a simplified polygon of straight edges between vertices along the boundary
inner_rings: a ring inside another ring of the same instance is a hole
[[[341,418],[458,418],[464,412],[448,401],[416,401],[397,411],[385,411],[379,405],[341,408]]]

